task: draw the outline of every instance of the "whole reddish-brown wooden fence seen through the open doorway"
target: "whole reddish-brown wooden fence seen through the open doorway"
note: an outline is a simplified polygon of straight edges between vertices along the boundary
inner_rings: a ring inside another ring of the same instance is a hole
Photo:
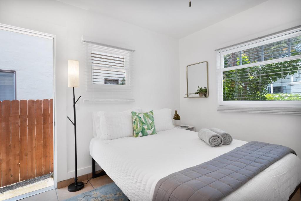
[[[0,101],[0,125],[0,187],[53,172],[52,99]]]

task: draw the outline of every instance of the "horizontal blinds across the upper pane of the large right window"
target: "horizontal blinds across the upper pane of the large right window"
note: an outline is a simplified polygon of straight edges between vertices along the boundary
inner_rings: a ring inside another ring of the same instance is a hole
[[[224,68],[301,55],[301,36],[224,55]]]

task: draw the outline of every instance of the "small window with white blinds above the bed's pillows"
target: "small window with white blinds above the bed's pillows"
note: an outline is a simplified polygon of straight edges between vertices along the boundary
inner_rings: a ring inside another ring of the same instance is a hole
[[[133,51],[86,42],[85,101],[133,101]],[[92,93],[91,93],[92,92]]]

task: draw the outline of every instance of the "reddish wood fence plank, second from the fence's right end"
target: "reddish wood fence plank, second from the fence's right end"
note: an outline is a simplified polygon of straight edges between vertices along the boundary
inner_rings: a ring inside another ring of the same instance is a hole
[[[50,173],[49,100],[43,99],[43,173]]]

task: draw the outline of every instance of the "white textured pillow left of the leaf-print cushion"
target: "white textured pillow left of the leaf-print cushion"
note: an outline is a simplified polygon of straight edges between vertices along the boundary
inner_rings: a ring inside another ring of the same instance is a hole
[[[134,133],[132,111],[140,112],[140,108],[123,112],[93,112],[93,136],[103,140],[132,136]]]

